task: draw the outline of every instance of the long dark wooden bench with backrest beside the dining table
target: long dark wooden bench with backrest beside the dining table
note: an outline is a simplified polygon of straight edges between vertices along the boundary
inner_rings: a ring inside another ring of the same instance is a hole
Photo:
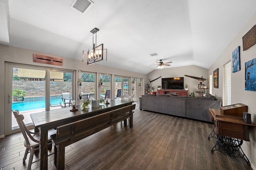
[[[135,104],[57,127],[57,133],[51,136],[54,144],[54,164],[57,166],[57,170],[64,170],[65,146],[118,122],[124,121],[124,125],[127,125],[127,118],[130,119],[129,123],[130,127],[132,127],[132,110],[134,109]]]

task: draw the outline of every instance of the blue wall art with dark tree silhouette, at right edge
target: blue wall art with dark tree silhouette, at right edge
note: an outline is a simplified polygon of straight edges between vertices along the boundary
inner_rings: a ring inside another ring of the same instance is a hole
[[[245,90],[256,91],[256,58],[245,63]]]

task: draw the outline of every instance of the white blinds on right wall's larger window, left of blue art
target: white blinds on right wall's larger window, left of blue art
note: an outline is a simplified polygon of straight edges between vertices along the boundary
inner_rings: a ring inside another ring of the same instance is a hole
[[[224,65],[224,103],[231,105],[231,61]]]

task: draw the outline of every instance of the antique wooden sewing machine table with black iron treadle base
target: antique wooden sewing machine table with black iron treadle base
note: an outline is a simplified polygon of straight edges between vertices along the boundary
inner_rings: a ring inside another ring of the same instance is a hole
[[[254,123],[245,123],[237,117],[225,117],[220,112],[220,109],[209,109],[209,111],[211,120],[214,121],[214,127],[208,136],[208,140],[210,138],[217,139],[211,152],[213,153],[215,150],[218,150],[232,157],[240,157],[250,165],[250,161],[244,154],[241,145],[243,144],[243,140],[250,141],[248,127],[256,127],[256,125]]]

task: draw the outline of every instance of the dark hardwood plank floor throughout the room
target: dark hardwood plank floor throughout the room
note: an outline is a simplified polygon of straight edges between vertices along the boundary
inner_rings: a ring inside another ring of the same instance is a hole
[[[135,103],[132,128],[118,123],[67,146],[65,169],[252,170],[242,158],[211,153],[216,139],[208,140],[208,135],[213,124],[140,111]],[[1,170],[27,168],[29,156],[22,163],[23,141],[21,133],[0,139]],[[39,162],[31,168],[39,170]],[[53,155],[48,157],[48,169],[56,170]]]

